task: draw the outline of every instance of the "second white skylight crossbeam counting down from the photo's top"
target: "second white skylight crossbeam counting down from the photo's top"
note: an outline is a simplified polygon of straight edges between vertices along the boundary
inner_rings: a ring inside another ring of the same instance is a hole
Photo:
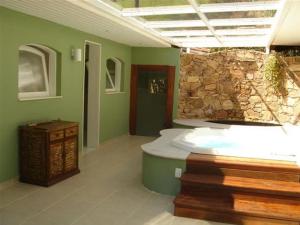
[[[247,25],[272,25],[272,17],[261,18],[234,18],[234,19],[211,19],[209,23],[213,27],[218,26],[247,26]],[[149,28],[175,28],[175,27],[206,27],[201,20],[166,20],[166,21],[146,21]]]

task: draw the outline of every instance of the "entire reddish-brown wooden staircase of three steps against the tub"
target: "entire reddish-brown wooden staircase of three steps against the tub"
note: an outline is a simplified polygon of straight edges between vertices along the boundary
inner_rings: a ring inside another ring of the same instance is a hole
[[[175,216],[240,225],[300,225],[300,167],[190,154]]]

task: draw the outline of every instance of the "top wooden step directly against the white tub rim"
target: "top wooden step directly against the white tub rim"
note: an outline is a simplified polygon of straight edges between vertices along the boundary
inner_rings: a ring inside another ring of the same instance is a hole
[[[300,175],[300,167],[293,162],[191,153],[187,158],[187,172],[197,166]]]

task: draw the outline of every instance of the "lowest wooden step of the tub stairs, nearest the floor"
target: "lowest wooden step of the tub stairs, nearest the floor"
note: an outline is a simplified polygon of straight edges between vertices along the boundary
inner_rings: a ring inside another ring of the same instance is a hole
[[[267,197],[253,198],[253,196],[243,194],[224,197],[194,197],[180,194],[175,198],[174,204],[176,216],[203,218],[201,212],[204,210],[221,214],[226,213],[232,217],[250,216],[300,223],[300,202],[295,200],[277,200]],[[194,215],[187,215],[181,209],[192,210]],[[200,215],[197,215],[197,210],[199,210]],[[223,218],[220,219],[224,221]]]

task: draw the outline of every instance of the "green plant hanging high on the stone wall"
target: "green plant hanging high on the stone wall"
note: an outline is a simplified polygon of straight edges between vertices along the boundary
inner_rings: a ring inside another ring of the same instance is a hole
[[[284,76],[280,61],[275,54],[270,54],[264,64],[263,74],[266,80],[270,81],[275,92],[280,92],[283,88]]]

